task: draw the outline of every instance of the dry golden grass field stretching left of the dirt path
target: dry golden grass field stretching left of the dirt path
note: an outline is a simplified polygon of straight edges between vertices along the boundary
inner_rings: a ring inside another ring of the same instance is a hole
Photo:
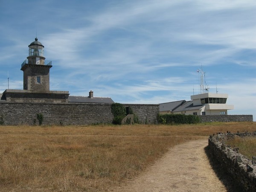
[[[217,132],[255,130],[255,122],[0,126],[0,190],[110,190],[177,144],[207,140]]]

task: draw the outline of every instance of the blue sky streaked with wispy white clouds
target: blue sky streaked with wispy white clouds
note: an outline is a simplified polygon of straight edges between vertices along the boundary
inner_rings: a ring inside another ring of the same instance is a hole
[[[0,0],[0,92],[23,89],[28,45],[52,61],[50,90],[158,104],[228,93],[256,118],[254,0]]]

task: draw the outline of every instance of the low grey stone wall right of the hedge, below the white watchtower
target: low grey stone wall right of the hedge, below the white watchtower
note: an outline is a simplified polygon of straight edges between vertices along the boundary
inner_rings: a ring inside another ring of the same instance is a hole
[[[253,115],[202,115],[201,122],[244,122],[253,121]]]

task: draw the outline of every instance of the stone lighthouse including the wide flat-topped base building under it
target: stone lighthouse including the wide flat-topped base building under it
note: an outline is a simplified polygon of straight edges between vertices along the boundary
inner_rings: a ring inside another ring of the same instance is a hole
[[[67,103],[69,92],[50,90],[52,61],[45,63],[44,45],[35,38],[29,45],[29,56],[21,64],[23,90],[6,89],[1,100],[19,103]]]

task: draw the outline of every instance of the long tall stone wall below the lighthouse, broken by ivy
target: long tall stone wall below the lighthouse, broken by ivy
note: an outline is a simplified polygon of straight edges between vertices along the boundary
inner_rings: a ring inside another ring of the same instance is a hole
[[[132,106],[142,123],[146,122],[145,119],[147,123],[156,122],[159,105],[129,106]],[[0,102],[0,117],[3,116],[4,125],[34,125],[35,121],[38,125],[38,113],[44,116],[43,125],[89,125],[111,123],[113,120],[111,104]]]

